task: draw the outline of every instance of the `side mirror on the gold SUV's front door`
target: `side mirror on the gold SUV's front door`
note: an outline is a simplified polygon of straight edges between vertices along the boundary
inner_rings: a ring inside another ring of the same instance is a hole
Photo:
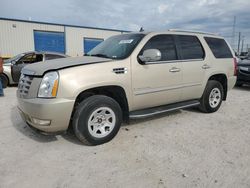
[[[143,54],[139,56],[139,59],[143,62],[154,62],[161,60],[161,52],[158,49],[144,50]]]

